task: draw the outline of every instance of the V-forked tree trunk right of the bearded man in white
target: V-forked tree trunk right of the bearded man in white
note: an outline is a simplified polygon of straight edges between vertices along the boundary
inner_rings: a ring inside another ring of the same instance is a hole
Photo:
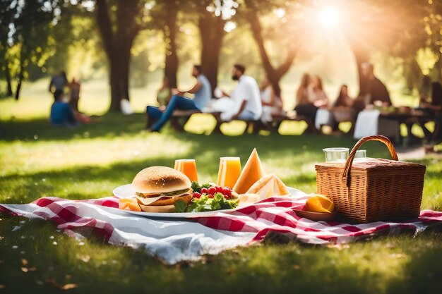
[[[267,75],[268,80],[272,84],[275,94],[280,96],[281,94],[280,80],[287,73],[287,71],[289,71],[290,67],[292,66],[294,57],[297,54],[296,42],[297,41],[299,42],[299,40],[291,40],[292,42],[286,44],[287,54],[284,61],[282,61],[282,63],[280,63],[279,66],[273,66],[272,62],[270,61],[270,56],[268,54],[268,51],[265,49],[265,39],[263,38],[263,27],[261,25],[261,20],[258,16],[258,12],[270,11],[270,9],[275,8],[275,6],[270,2],[266,3],[266,1],[261,1],[261,7],[258,6],[256,1],[253,0],[244,0],[244,3],[247,6],[246,18],[249,21],[251,31],[253,33],[253,39],[255,39],[255,42],[258,46],[258,51],[261,56],[261,61],[263,63],[265,74]]]

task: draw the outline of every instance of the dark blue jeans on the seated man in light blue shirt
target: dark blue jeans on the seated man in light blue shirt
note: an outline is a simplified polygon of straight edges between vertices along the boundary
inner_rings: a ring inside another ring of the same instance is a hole
[[[155,106],[148,106],[146,109],[149,119],[153,119],[156,123],[152,126],[152,130],[160,131],[161,128],[169,121],[170,116],[174,113],[175,109],[181,110],[198,110],[195,106],[195,102],[192,99],[181,97],[178,95],[172,96],[169,104],[167,104],[165,112],[161,112]]]

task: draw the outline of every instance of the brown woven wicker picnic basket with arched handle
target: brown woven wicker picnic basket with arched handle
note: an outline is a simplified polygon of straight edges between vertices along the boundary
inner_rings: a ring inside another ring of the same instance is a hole
[[[368,141],[387,145],[393,160],[354,161],[357,149]],[[398,161],[395,147],[381,135],[364,137],[354,145],[344,164],[316,164],[319,194],[333,201],[340,214],[364,223],[419,216],[426,167]]]

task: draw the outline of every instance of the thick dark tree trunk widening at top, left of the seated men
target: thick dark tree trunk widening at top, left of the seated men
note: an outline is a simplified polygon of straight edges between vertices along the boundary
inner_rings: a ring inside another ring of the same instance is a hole
[[[131,47],[143,28],[143,4],[141,0],[96,0],[95,17],[109,61],[110,111],[119,111],[121,99],[129,99]]]

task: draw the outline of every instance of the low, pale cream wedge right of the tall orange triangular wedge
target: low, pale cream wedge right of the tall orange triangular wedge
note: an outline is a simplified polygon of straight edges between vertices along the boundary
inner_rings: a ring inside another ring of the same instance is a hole
[[[256,181],[246,194],[258,194],[259,200],[263,200],[273,196],[289,195],[290,192],[275,173],[270,173],[270,175]]]

